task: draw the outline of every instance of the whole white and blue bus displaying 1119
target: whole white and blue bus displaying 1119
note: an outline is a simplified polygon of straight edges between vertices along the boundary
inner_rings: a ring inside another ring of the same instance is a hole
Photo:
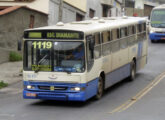
[[[23,97],[100,99],[147,62],[146,19],[93,18],[24,32]]]

